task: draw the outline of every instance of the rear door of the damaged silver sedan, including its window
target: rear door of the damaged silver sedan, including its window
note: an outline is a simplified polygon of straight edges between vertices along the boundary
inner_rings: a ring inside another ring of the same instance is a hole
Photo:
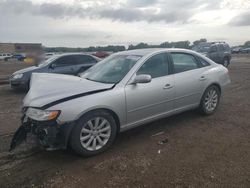
[[[175,82],[175,110],[198,105],[207,82],[209,63],[202,64],[198,57],[182,52],[170,54]]]

